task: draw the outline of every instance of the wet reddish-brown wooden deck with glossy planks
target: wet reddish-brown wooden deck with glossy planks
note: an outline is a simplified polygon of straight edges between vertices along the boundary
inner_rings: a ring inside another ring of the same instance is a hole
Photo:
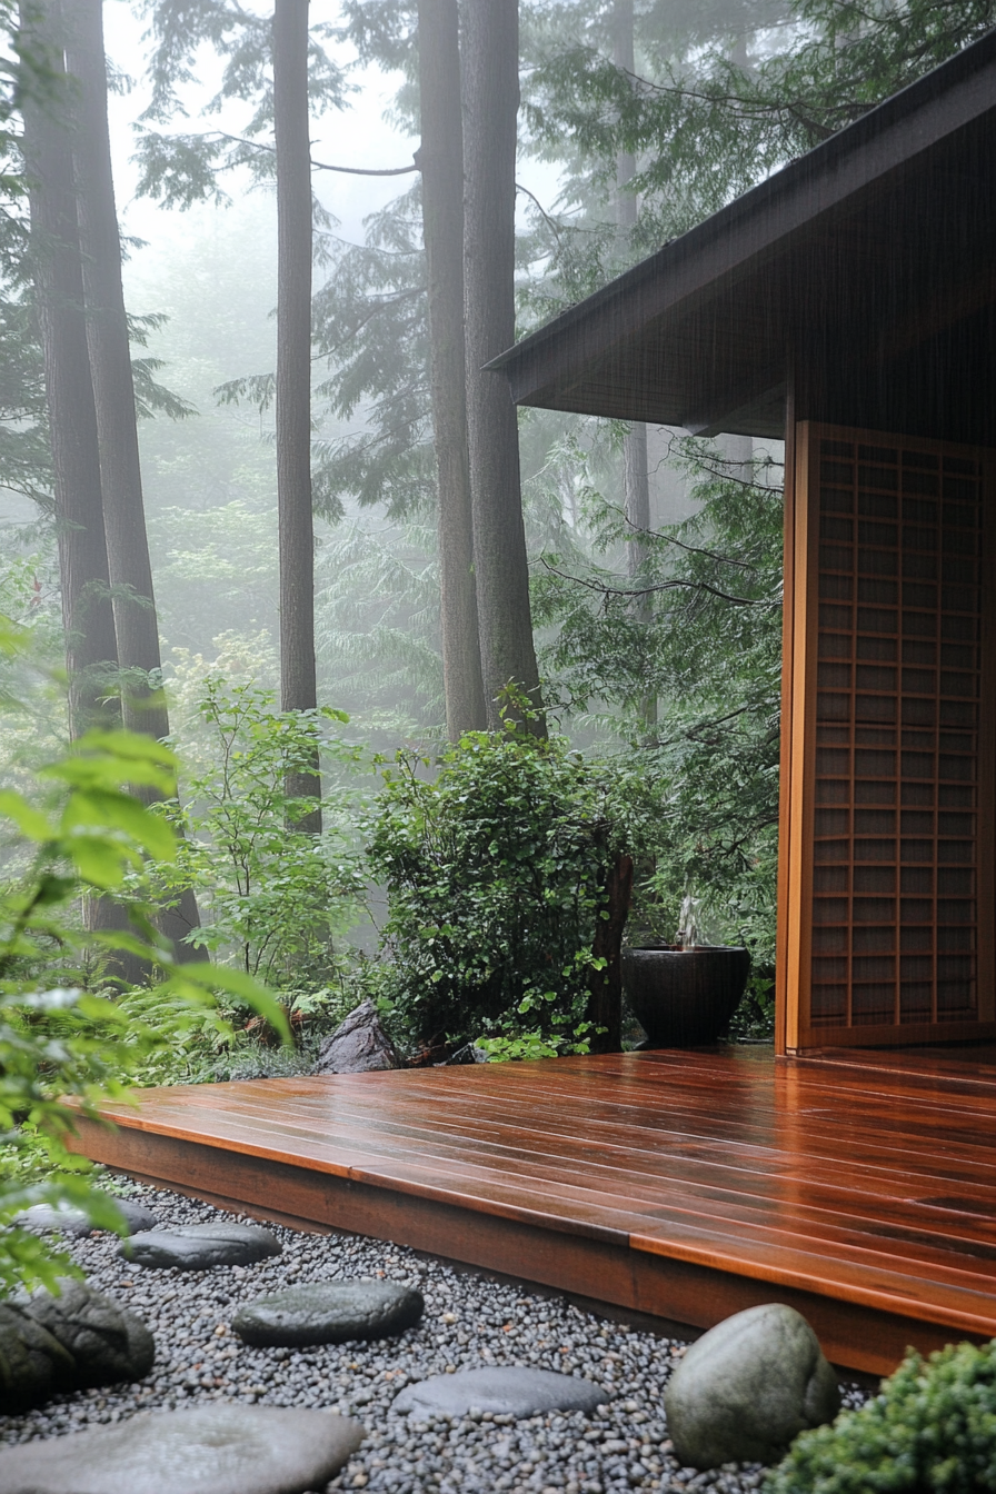
[[[996,1336],[996,1068],[653,1052],[152,1089],[79,1150],[705,1328],[797,1306],[841,1366]]]

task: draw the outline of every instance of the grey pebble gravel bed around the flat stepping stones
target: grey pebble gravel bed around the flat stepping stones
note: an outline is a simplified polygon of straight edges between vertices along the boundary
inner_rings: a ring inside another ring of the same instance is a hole
[[[140,1185],[121,1191],[146,1201],[163,1225],[231,1218],[178,1194]],[[39,1410],[0,1416],[0,1443],[54,1437],[136,1410],[228,1400],[324,1407],[363,1422],[363,1448],[330,1491],[760,1488],[759,1464],[697,1473],[675,1461],[662,1389],[682,1343],[606,1322],[564,1298],[455,1271],[402,1246],[269,1228],[284,1246],[281,1256],[211,1271],[143,1271],[115,1256],[113,1236],[73,1242],[70,1252],[90,1282],[152,1328],[155,1367],[134,1385],[58,1395]],[[423,1322],[399,1339],[309,1349],[252,1349],[228,1328],[236,1309],[263,1292],[343,1277],[417,1286],[426,1297]],[[484,1415],[426,1422],[391,1413],[394,1395],[412,1380],[481,1366],[581,1374],[605,1386],[605,1404],[594,1416],[569,1412],[521,1421]],[[857,1386],[844,1389],[845,1403],[863,1398]]]

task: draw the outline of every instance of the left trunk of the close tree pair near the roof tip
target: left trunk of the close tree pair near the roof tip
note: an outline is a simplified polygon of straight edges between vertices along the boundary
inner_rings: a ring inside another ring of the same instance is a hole
[[[429,270],[433,438],[446,732],[487,726],[467,453],[463,332],[463,117],[457,0],[418,0],[423,236]]]

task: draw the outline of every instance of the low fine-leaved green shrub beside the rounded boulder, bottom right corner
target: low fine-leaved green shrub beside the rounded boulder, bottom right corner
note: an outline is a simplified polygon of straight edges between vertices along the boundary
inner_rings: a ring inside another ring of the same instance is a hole
[[[969,1494],[996,1490],[996,1340],[909,1354],[881,1392],[803,1431],[768,1494]]]

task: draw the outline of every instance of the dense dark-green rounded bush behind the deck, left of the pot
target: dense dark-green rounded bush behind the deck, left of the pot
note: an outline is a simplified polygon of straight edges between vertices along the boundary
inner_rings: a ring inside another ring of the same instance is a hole
[[[427,771],[412,753],[384,771],[370,843],[396,1011],[414,1037],[494,1040],[496,1056],[584,1046],[603,887],[633,829],[624,774],[512,720]]]

